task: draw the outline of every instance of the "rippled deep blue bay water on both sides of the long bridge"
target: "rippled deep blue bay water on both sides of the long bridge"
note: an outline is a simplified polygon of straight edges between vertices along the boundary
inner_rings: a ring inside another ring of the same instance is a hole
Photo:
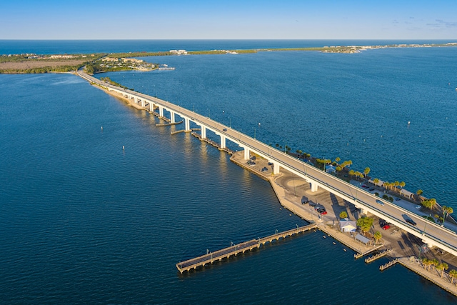
[[[262,141],[287,137],[294,149],[349,156],[362,169],[375,162],[368,166],[380,178],[395,174],[407,189],[420,182],[412,181],[416,171],[426,173],[450,191],[456,183],[433,161],[449,168],[456,162],[455,140],[448,139],[457,123],[448,87],[456,82],[449,72],[455,51],[421,51],[176,56],[160,59],[175,71],[106,76],[208,110],[246,134],[261,122]],[[425,89],[408,98],[414,91],[406,84],[416,81],[415,89]],[[318,232],[181,275],[174,265],[183,259],[303,221],[279,209],[269,184],[226,154],[189,134],[170,136],[154,117],[76,76],[1,75],[0,93],[2,304],[456,301],[401,266],[381,273],[378,264],[353,261],[352,251]],[[415,118],[406,130],[401,116]],[[418,134],[417,143],[406,137]],[[395,148],[400,161],[391,156]],[[412,172],[398,166],[411,163]],[[421,188],[441,195],[439,185]]]

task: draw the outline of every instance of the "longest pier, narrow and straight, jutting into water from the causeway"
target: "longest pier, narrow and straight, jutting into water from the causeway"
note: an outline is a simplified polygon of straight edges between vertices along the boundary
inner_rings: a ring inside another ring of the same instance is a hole
[[[176,264],[176,268],[182,274],[184,271],[191,271],[192,269],[197,269],[199,266],[203,267],[206,264],[213,264],[214,261],[222,261],[222,259],[229,259],[230,256],[236,256],[238,253],[244,253],[245,251],[251,251],[252,249],[260,248],[261,245],[264,245],[273,240],[285,239],[288,236],[309,231],[316,228],[316,226],[316,224],[308,224],[306,226],[300,226],[295,229],[266,236],[261,239],[252,239],[250,241],[245,241],[241,244],[235,244],[215,252],[209,252],[194,259],[180,261],[178,264]]]

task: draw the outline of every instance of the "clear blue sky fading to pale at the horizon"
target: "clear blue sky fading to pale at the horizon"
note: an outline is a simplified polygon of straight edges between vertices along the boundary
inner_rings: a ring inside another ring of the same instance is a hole
[[[0,7],[0,39],[457,39],[457,0],[10,0]]]

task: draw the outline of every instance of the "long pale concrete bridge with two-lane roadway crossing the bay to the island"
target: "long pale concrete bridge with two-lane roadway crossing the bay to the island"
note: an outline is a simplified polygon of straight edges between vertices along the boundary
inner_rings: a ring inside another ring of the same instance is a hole
[[[311,191],[316,191],[318,187],[326,189],[326,191],[351,202],[356,206],[356,208],[361,209],[362,213],[369,212],[381,217],[382,219],[386,219],[386,221],[398,226],[400,229],[418,236],[418,238],[429,246],[437,246],[453,256],[457,256],[457,234],[454,231],[434,224],[431,221],[427,221],[417,214],[411,214],[410,211],[407,211],[400,206],[396,206],[389,201],[385,201],[377,196],[374,196],[368,191],[364,191],[363,189],[353,186],[346,181],[342,181],[331,174],[327,174],[320,169],[316,169],[315,167],[310,166],[299,159],[293,158],[284,152],[273,149],[273,147],[253,139],[250,136],[246,136],[240,131],[231,129],[229,126],[225,126],[224,124],[211,120],[209,117],[202,116],[194,111],[171,104],[168,101],[157,99],[153,96],[148,96],[136,91],[122,89],[117,86],[106,84],[99,79],[84,74],[82,71],[79,71],[78,74],[83,79],[86,79],[91,83],[99,84],[109,91],[116,91],[124,96],[129,96],[129,99],[134,98],[135,102],[138,102],[139,100],[143,101],[142,105],[145,109],[146,107],[144,101],[147,101],[149,104],[153,103],[156,106],[167,109],[170,113],[173,113],[173,115],[178,114],[186,121],[187,130],[190,129],[189,121],[194,121],[195,124],[204,126],[206,129],[210,129],[214,131],[215,134],[221,136],[221,146],[225,146],[225,140],[229,139],[230,141],[238,144],[238,146],[242,147],[245,151],[244,159],[247,160],[249,158],[249,152],[252,151],[273,163],[274,174],[278,173],[279,166],[281,166],[310,183]],[[161,110],[161,112],[163,113],[163,110]],[[381,201],[383,204],[378,204],[377,201]],[[406,216],[413,219],[417,225],[413,226],[406,223]]]

